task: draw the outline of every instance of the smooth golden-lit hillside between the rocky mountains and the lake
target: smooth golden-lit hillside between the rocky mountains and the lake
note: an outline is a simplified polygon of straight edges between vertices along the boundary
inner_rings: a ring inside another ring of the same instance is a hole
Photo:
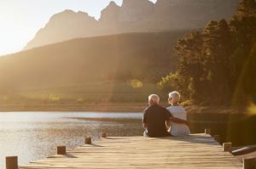
[[[173,47],[185,32],[80,38],[3,56],[0,104],[144,102],[177,70]]]

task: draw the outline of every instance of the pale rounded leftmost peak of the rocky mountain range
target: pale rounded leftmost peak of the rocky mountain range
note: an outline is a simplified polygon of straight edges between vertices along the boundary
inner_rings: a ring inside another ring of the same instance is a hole
[[[36,37],[27,43],[27,48],[44,46],[45,44],[62,42],[76,37],[96,35],[98,22],[87,13],[75,13],[65,10],[53,15],[49,23],[38,31]]]

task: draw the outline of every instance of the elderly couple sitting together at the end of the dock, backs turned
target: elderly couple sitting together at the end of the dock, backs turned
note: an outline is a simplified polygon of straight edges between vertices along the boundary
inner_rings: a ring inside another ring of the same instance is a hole
[[[166,137],[185,136],[190,134],[187,113],[179,105],[180,94],[176,91],[169,93],[168,108],[161,107],[160,98],[156,94],[148,96],[149,107],[144,110],[144,136]]]

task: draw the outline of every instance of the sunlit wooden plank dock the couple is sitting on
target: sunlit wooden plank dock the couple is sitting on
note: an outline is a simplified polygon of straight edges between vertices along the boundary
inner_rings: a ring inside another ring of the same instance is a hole
[[[54,155],[19,168],[242,168],[236,157],[224,152],[207,134],[168,138],[110,137],[86,143],[67,151],[66,155]],[[65,154],[65,149],[59,149],[59,154]]]

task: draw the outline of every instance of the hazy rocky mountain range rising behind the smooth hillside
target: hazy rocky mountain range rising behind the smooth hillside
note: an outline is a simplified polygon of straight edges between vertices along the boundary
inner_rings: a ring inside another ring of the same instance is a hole
[[[95,20],[84,12],[65,10],[55,14],[25,49],[125,32],[201,29],[209,20],[230,19],[239,0],[123,0],[109,3]]]

